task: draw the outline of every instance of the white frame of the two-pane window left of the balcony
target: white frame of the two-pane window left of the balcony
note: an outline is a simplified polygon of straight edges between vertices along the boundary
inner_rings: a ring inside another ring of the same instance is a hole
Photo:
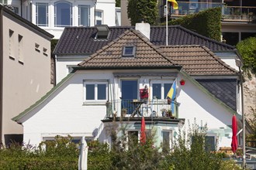
[[[94,100],[87,100],[86,99],[86,85],[87,84],[93,84],[95,86],[95,94]],[[98,85],[99,84],[105,84],[106,85],[106,99],[104,100],[98,100]],[[84,104],[106,104],[106,101],[108,100],[108,80],[84,80]]]

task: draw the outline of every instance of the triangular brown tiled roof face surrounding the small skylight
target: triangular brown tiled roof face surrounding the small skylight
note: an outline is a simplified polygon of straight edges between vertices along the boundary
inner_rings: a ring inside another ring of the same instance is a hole
[[[122,56],[123,46],[136,46],[135,56]],[[78,65],[83,66],[84,69],[181,67],[175,65],[171,59],[164,56],[147,38],[134,29],[123,32],[119,38],[99,49]]]

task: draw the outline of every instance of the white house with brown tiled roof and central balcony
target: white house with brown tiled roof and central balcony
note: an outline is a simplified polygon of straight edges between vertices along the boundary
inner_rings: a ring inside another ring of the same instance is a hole
[[[38,145],[57,134],[70,134],[76,139],[86,136],[111,145],[111,131],[119,134],[121,126],[127,125],[126,134],[140,138],[143,114],[147,131],[156,132],[155,145],[162,143],[171,148],[178,130],[184,124],[188,128],[196,118],[199,125],[207,123],[207,138],[213,150],[230,147],[231,117],[236,114],[240,118],[238,72],[206,46],[155,46],[145,25],[145,36],[133,29],[124,31],[74,67],[36,104],[14,117],[24,127],[24,142]],[[75,49],[73,55],[66,55],[71,58],[84,50],[82,39],[86,35],[79,31],[65,31],[57,52]],[[64,38],[68,35],[78,36],[78,44]],[[175,80],[177,103],[171,105],[166,95]],[[141,100],[144,89],[148,90],[148,99]],[[165,110],[173,111],[170,115]]]

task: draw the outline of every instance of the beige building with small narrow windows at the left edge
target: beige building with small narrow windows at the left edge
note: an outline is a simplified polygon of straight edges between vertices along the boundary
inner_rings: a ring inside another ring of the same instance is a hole
[[[50,33],[0,5],[0,142],[22,141],[13,116],[39,100],[53,84]]]

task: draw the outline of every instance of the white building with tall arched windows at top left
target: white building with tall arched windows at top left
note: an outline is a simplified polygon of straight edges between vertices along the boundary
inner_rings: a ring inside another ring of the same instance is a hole
[[[64,27],[116,26],[115,0],[9,0],[23,18],[59,39]]]

